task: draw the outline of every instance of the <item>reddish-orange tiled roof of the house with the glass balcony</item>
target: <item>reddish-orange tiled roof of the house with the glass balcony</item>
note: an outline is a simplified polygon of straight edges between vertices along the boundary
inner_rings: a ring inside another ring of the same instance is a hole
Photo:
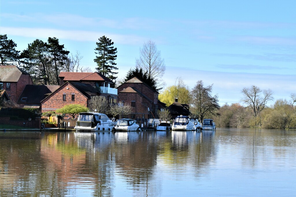
[[[60,72],[59,78],[62,77],[64,81],[106,81],[113,83],[99,72]]]

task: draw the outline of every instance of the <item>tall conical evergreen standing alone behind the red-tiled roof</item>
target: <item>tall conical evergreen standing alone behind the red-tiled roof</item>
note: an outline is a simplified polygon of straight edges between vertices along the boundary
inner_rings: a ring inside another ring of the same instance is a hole
[[[99,38],[99,42],[96,43],[97,47],[95,48],[95,50],[98,51],[95,53],[99,55],[94,59],[98,65],[96,69],[103,76],[106,76],[111,80],[117,78],[113,74],[118,74],[118,72],[112,71],[118,70],[118,68],[115,67],[116,63],[114,62],[117,58],[117,48],[114,48],[114,46],[112,46],[113,44],[114,42],[111,42],[111,39],[106,38],[105,36]]]

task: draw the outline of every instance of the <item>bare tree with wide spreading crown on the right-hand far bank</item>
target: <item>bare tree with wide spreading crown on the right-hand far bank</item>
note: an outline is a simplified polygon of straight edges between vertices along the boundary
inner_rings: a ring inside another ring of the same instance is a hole
[[[253,112],[253,116],[256,118],[258,113],[264,109],[269,100],[273,100],[271,89],[261,90],[257,86],[251,86],[249,88],[243,88],[242,102],[247,104],[247,107]],[[263,93],[263,95],[261,95]]]

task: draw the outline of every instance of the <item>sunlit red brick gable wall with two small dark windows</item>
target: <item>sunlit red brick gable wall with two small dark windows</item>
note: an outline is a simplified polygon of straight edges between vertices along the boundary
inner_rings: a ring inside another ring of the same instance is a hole
[[[69,88],[69,89],[67,89]],[[63,100],[63,94],[66,94],[66,100]],[[71,100],[72,93],[75,94],[75,101]],[[80,104],[87,107],[87,98],[84,97],[70,84],[65,85],[62,89],[57,90],[49,98],[42,102],[42,113],[46,111],[54,111],[69,104]]]

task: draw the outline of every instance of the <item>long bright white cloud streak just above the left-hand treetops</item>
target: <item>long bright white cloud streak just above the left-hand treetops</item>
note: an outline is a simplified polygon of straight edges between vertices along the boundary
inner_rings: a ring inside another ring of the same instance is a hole
[[[57,30],[46,28],[25,28],[25,27],[1,27],[2,34],[23,36],[28,38],[48,38],[57,37],[59,39],[75,41],[97,41],[102,35],[106,35],[112,41],[119,44],[136,44],[142,43],[143,38],[137,35],[120,35],[107,32],[81,31],[81,30]]]

